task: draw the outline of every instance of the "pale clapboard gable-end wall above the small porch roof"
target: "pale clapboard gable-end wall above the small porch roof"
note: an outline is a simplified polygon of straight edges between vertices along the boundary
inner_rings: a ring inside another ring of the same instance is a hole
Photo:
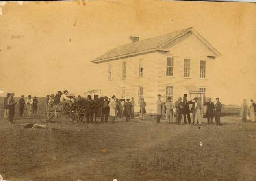
[[[182,97],[184,92],[182,85],[196,85],[198,88],[206,88],[206,97],[211,97],[213,93],[213,64],[214,59],[207,57],[212,54],[210,50],[193,33],[188,32],[182,37],[166,45],[164,49],[169,49],[168,53],[159,53],[158,61],[158,92],[165,101],[166,86],[173,86],[173,102],[178,97]],[[173,76],[166,76],[167,57],[173,57]],[[190,77],[183,77],[184,59],[190,59]],[[206,61],[206,78],[200,78],[200,60]]]

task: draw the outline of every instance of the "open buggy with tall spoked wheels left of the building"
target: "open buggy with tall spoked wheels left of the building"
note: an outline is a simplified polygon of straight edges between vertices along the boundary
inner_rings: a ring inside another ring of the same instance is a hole
[[[70,99],[74,95],[69,94]],[[73,100],[73,99],[72,99]],[[77,104],[75,101],[66,100],[59,103],[42,102],[38,107],[38,117],[41,122],[83,122],[85,118],[85,108]]]

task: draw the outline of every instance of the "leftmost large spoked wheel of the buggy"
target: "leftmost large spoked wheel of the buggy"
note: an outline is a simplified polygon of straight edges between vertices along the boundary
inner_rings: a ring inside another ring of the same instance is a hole
[[[37,110],[38,118],[41,122],[50,122],[54,117],[54,112],[47,106],[47,102],[42,102]]]

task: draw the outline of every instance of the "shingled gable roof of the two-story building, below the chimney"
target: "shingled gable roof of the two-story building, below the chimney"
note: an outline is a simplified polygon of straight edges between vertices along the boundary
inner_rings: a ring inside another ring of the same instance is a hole
[[[197,33],[193,29],[193,27],[189,27],[186,29],[175,31],[173,33],[168,33],[165,35],[160,35],[158,37],[139,40],[135,43],[129,43],[129,44],[118,46],[108,51],[107,53],[104,53],[100,57],[92,60],[91,62],[97,63],[105,60],[111,60],[111,59],[116,59],[116,58],[121,58],[121,57],[139,54],[139,53],[156,51],[156,50],[167,51],[165,49],[161,49],[161,47],[165,46],[166,44],[172,42],[176,38],[184,35],[189,31],[192,31],[193,33],[195,33],[195,35],[198,38],[200,38],[200,40],[202,40],[202,42],[213,51],[213,53],[216,55],[215,57],[219,57],[221,55],[215,48],[213,48],[213,46],[211,46],[210,43],[208,43],[201,35],[199,35],[199,33]]]

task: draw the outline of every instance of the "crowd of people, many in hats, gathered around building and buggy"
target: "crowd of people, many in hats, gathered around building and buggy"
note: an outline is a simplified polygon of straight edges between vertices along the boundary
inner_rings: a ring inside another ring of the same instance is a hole
[[[56,95],[47,95],[46,102],[48,106],[51,107],[60,102],[71,102],[72,104],[83,106],[83,108],[85,108],[85,118],[87,123],[96,123],[97,117],[100,117],[102,123],[108,121],[110,121],[110,123],[115,123],[115,119],[122,118],[124,115],[126,117],[125,122],[134,119],[134,107],[136,104],[133,97],[131,98],[131,101],[130,99],[118,99],[115,95],[111,98],[104,96],[93,100],[91,95],[88,95],[87,98],[78,95],[78,97],[75,98],[74,96],[68,96],[68,93],[69,92],[65,90],[63,93],[58,91]],[[9,119],[10,123],[13,123],[14,108],[15,104],[17,104],[17,102],[14,101],[13,96],[14,93],[7,93],[4,99],[4,119]],[[203,106],[206,106],[207,123],[212,125],[213,117],[215,116],[216,125],[221,126],[221,102],[219,102],[219,98],[216,98],[216,101],[217,103],[214,105],[211,98],[208,98],[203,104],[200,99],[195,97],[190,101],[186,99],[182,102],[181,97],[178,97],[178,100],[173,104],[173,99],[171,97],[169,97],[168,101],[165,103],[161,101],[161,95],[159,94],[156,101],[156,123],[160,123],[160,119],[167,119],[168,123],[173,122],[174,108],[176,108],[176,124],[181,125],[183,120],[184,124],[187,124],[187,122],[188,124],[192,123],[191,125],[198,125],[200,129],[203,117]],[[28,99],[25,101],[24,95],[22,95],[18,104],[19,116],[22,117],[22,115],[24,115],[25,109],[28,111],[28,116],[31,116],[32,112],[37,113],[37,104],[38,101],[36,96],[32,99],[31,95],[28,95]],[[146,106],[147,104],[142,98],[139,104],[141,120],[145,120]],[[243,122],[246,122],[247,110],[246,100],[244,100],[240,113]],[[252,122],[255,122],[255,112],[256,104],[251,99],[250,117]],[[192,122],[190,113],[192,115]]]

